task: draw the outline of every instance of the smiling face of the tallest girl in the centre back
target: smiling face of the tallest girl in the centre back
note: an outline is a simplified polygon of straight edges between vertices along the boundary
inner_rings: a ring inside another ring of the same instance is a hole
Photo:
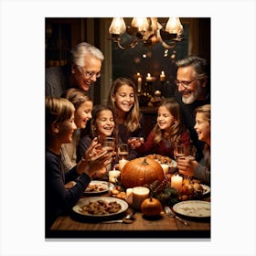
[[[133,87],[126,84],[120,86],[116,93],[112,95],[112,100],[116,102],[119,110],[129,112],[135,101]]]

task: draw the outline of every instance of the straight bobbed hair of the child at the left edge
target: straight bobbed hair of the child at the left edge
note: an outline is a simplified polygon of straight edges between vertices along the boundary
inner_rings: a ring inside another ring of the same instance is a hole
[[[69,120],[73,112],[75,112],[75,107],[67,99],[47,97],[45,123],[47,137],[51,135],[52,123],[62,123]]]

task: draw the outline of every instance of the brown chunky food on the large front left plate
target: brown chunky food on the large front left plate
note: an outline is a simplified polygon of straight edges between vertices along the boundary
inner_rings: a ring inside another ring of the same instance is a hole
[[[116,201],[107,202],[105,200],[90,201],[79,208],[81,214],[107,215],[117,213],[121,210],[121,205]]]

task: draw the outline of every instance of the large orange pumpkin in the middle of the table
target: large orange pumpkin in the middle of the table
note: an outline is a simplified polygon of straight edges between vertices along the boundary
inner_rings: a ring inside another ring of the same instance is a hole
[[[165,179],[163,168],[155,160],[140,157],[123,166],[121,182],[123,187],[144,187],[155,180],[161,183]]]

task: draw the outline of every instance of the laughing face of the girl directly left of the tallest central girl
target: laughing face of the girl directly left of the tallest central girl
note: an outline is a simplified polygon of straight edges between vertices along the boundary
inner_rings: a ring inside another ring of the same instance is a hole
[[[93,127],[96,129],[98,135],[100,135],[101,137],[107,137],[112,135],[114,129],[112,111],[101,111],[96,118],[95,123],[93,123]]]

